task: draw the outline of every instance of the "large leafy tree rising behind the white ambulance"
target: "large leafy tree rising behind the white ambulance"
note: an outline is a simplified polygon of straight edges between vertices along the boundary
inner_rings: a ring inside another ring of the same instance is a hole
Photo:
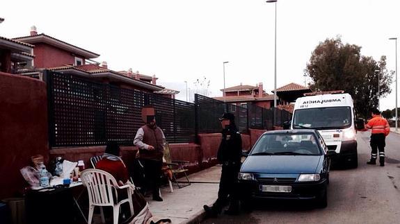
[[[382,98],[391,92],[394,72],[386,70],[386,56],[376,62],[361,55],[360,49],[343,44],[340,37],[326,39],[312,52],[305,71],[312,79],[313,91],[344,90],[353,97],[357,115],[367,118],[371,108],[378,107],[378,77]]]

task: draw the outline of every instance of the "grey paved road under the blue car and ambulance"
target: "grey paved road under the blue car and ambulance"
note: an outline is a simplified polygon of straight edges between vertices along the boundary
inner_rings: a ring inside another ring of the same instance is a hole
[[[251,213],[222,215],[203,223],[400,223],[400,135],[386,138],[386,166],[371,166],[369,132],[358,133],[358,169],[333,170],[328,207],[304,202],[265,202]]]

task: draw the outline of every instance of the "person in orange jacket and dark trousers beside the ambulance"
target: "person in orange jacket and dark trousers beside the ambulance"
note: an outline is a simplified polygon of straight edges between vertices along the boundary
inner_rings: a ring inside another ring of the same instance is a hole
[[[379,163],[385,166],[385,137],[389,135],[390,126],[386,119],[381,117],[379,110],[372,110],[372,119],[368,121],[365,128],[371,129],[371,160],[367,164],[376,164],[379,149]]]

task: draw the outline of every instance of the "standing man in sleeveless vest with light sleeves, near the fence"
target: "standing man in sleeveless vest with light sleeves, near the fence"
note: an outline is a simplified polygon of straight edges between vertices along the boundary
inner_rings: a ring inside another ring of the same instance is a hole
[[[139,159],[145,170],[145,182],[147,187],[152,189],[153,200],[163,201],[159,195],[159,189],[166,137],[161,128],[156,125],[155,115],[152,105],[143,107],[142,119],[145,125],[136,132],[134,144],[139,148]]]

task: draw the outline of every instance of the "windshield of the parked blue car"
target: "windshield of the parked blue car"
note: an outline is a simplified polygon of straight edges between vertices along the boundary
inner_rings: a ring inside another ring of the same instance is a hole
[[[250,155],[322,155],[313,133],[266,134]]]

